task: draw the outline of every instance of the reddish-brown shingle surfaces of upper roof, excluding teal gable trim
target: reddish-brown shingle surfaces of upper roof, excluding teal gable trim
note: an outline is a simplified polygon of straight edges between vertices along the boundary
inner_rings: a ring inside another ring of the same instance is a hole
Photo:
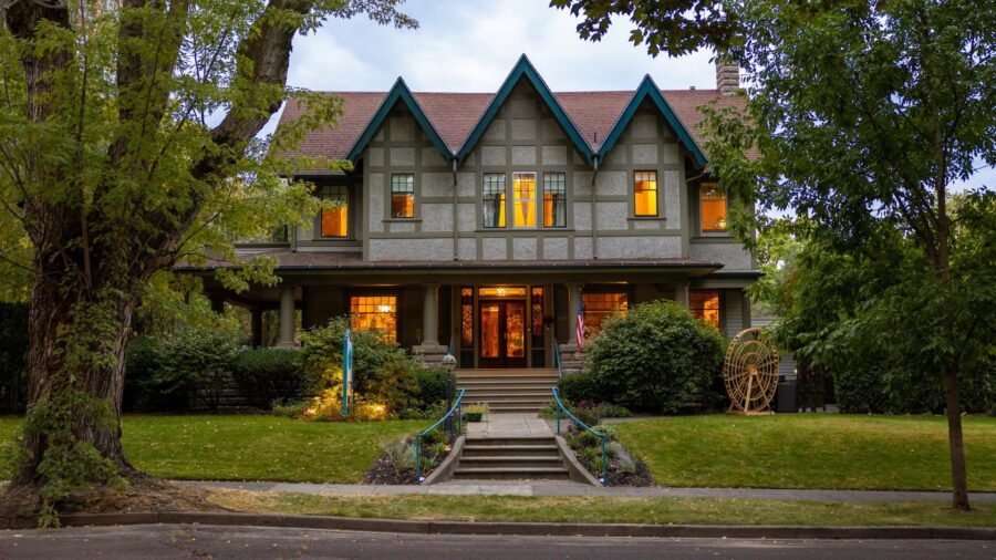
[[[294,151],[295,155],[345,157],[387,95],[387,92],[325,93],[343,100],[343,115],[339,126],[308,134]],[[633,97],[633,91],[560,92],[553,95],[583,134],[585,142],[593,149],[598,149]],[[699,146],[704,142],[697,127],[702,121],[697,107],[717,98],[722,106],[744,105],[743,97],[723,96],[718,90],[663,90],[661,93]],[[413,95],[454,153],[460,148],[488,103],[495,97],[492,93],[423,92]],[[300,118],[301,112],[302,107],[297,100],[290,100],[280,116],[280,123]]]

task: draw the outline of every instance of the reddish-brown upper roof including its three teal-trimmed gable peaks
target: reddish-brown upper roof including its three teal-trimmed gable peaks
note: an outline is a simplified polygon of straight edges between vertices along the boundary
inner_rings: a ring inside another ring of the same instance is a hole
[[[644,77],[635,91],[553,93],[523,55],[497,94],[416,93],[409,91],[401,79],[386,93],[328,92],[343,102],[339,125],[310,132],[289,155],[355,159],[383,124],[386,114],[401,102],[419,121],[419,125],[446,160],[463,160],[474,149],[508,94],[523,79],[543,96],[573,145],[589,162],[595,155],[601,158],[609,154],[636,108],[650,100],[667,120],[696,164],[703,165],[705,155],[701,146],[704,138],[698,135],[697,129],[703,115],[697,107],[713,102],[718,102],[719,106],[744,105],[743,97],[724,96],[718,90],[662,91],[649,76]],[[295,98],[291,98],[280,122],[300,118],[305,108]],[[300,173],[320,175],[325,172],[302,169]]]

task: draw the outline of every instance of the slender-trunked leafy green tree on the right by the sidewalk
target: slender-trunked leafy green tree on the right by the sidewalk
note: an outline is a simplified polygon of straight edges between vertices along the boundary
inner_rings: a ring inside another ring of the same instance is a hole
[[[618,6],[639,13],[635,2]],[[720,0],[713,12],[735,23],[736,39],[704,35],[699,45],[737,61],[751,84],[743,113],[706,111],[713,172],[733,200],[757,205],[734,212],[734,229],[753,247],[767,216],[789,209],[838,255],[922,263],[901,270],[901,287],[868,292],[876,305],[855,321],[896,341],[914,322],[930,326],[912,333],[924,349],[912,365],[943,383],[953,504],[968,509],[957,381],[990,344],[977,305],[992,309],[994,267],[992,240],[988,255],[956,242],[948,201],[953,182],[996,165],[996,2]],[[661,33],[674,22],[634,21]],[[992,231],[993,219],[977,216],[977,229]],[[847,336],[857,324],[841,323],[836,340],[857,342]]]

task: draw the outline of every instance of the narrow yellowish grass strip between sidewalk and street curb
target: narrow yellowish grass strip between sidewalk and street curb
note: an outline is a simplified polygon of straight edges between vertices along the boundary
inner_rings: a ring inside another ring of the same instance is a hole
[[[212,490],[224,507],[263,514],[459,521],[994,527],[996,506],[971,512],[946,502],[831,502],[714,498],[521,496],[317,496]]]

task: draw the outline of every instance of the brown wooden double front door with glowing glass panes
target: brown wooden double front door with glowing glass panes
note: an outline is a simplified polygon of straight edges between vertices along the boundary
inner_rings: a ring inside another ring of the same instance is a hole
[[[480,300],[480,367],[526,367],[526,300]]]

